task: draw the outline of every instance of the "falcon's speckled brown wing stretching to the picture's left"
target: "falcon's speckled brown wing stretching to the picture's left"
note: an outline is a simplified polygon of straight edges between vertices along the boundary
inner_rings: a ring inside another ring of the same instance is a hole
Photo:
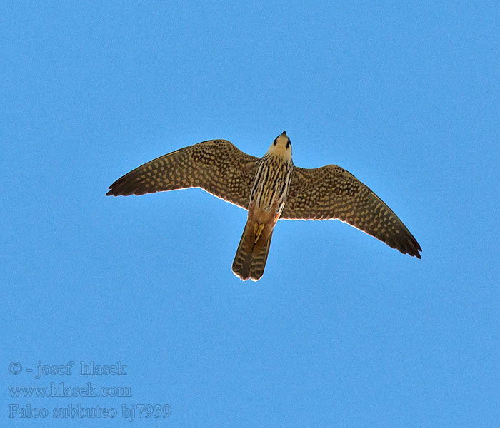
[[[248,209],[259,158],[226,140],[210,140],[154,159],[116,180],[106,195],[144,195],[165,190],[202,188]]]

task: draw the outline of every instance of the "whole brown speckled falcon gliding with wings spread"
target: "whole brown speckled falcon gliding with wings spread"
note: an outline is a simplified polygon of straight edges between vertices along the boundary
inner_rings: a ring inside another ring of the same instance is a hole
[[[354,175],[337,165],[299,168],[286,132],[261,158],[227,140],[208,140],[160,156],[116,180],[106,195],[144,195],[202,188],[248,210],[232,270],[241,280],[264,275],[278,220],[337,219],[421,258],[421,246],[396,214]]]

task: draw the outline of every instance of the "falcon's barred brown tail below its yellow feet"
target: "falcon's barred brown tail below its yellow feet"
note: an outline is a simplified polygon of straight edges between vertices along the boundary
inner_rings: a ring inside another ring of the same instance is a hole
[[[234,257],[234,275],[244,281],[249,279],[258,281],[261,279],[262,275],[264,275],[272,236],[273,230],[271,229],[267,238],[262,233],[257,243],[254,243],[254,225],[249,222],[246,223]],[[264,243],[264,245],[261,243]]]

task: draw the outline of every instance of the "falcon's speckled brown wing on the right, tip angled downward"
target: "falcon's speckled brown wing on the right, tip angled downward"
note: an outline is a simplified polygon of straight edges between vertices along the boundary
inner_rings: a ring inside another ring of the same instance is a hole
[[[401,253],[421,258],[419,243],[391,208],[354,175],[336,165],[295,167],[280,218],[338,218]]]

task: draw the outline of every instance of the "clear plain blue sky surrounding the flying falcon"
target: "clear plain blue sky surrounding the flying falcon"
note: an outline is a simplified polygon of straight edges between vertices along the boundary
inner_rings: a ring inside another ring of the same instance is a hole
[[[122,427],[132,404],[171,409],[136,427],[499,423],[496,2],[19,1],[0,16],[2,426]],[[262,156],[284,130],[296,165],[369,185],[422,260],[338,221],[281,221],[264,277],[241,282],[244,210],[203,190],[104,196],[177,148],[225,138]],[[13,396],[51,382],[131,394]],[[28,405],[48,416],[26,422]],[[54,417],[78,405],[117,414]]]

